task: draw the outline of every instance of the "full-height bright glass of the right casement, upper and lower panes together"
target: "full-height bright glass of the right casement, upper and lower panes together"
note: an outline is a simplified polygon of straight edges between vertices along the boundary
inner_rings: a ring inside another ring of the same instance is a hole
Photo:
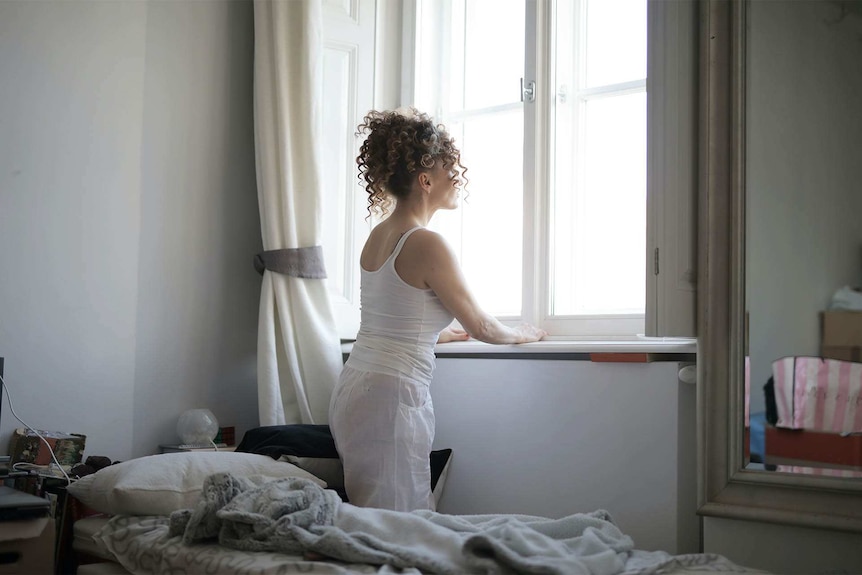
[[[646,2],[557,2],[548,315],[642,316]]]

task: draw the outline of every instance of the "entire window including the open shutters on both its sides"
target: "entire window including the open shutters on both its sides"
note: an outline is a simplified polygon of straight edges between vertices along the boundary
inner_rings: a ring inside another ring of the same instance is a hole
[[[350,5],[364,24],[341,23],[364,32],[325,29],[323,110],[340,146],[327,144],[327,213],[340,216],[324,221],[324,247],[343,337],[373,224],[350,138],[372,93],[377,109],[428,112],[459,144],[469,195],[431,226],[486,310],[557,337],[694,335],[693,0],[377,0],[376,31],[362,11],[373,0]],[[370,61],[373,88],[353,81]]]

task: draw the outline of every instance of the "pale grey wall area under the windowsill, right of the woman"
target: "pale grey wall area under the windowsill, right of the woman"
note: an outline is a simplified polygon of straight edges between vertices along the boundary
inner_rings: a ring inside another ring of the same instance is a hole
[[[440,511],[562,517],[606,509],[639,549],[700,548],[695,389],[676,362],[441,358]]]

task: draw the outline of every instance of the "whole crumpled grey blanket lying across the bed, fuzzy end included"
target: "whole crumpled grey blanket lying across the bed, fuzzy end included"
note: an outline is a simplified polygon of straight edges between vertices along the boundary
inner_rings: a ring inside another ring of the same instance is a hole
[[[255,485],[229,473],[207,478],[197,506],[171,515],[169,534],[443,574],[611,575],[624,571],[633,548],[601,510],[561,519],[404,513],[343,503],[302,478]]]

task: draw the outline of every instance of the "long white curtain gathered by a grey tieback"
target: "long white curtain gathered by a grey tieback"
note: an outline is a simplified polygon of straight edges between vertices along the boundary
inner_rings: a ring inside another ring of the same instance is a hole
[[[275,272],[269,263],[263,271],[257,352],[261,425],[326,423],[341,370],[332,306],[313,269],[319,263],[313,260],[320,253],[322,216],[321,26],[320,0],[255,0],[255,154],[263,249],[284,256],[267,262],[289,260],[289,271],[296,272]]]

